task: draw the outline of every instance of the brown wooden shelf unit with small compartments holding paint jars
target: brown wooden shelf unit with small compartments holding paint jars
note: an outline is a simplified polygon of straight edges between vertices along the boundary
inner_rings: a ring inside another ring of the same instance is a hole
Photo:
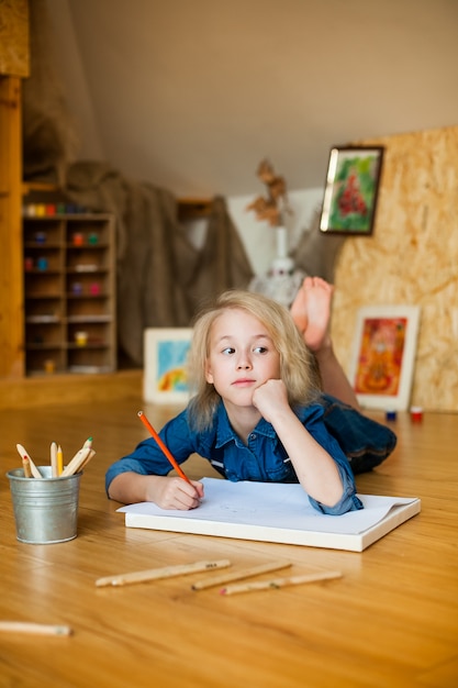
[[[111,214],[23,217],[27,376],[116,369]]]

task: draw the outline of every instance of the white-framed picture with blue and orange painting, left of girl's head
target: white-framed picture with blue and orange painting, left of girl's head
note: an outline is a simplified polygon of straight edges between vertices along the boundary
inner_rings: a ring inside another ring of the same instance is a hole
[[[192,328],[147,328],[144,332],[143,398],[186,404],[190,398],[187,362]]]

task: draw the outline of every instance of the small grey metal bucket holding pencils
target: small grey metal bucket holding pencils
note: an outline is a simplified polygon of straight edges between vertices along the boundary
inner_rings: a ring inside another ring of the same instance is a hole
[[[51,466],[37,466],[43,478],[9,470],[16,536],[20,542],[47,545],[77,536],[79,482],[82,473],[52,478]]]

